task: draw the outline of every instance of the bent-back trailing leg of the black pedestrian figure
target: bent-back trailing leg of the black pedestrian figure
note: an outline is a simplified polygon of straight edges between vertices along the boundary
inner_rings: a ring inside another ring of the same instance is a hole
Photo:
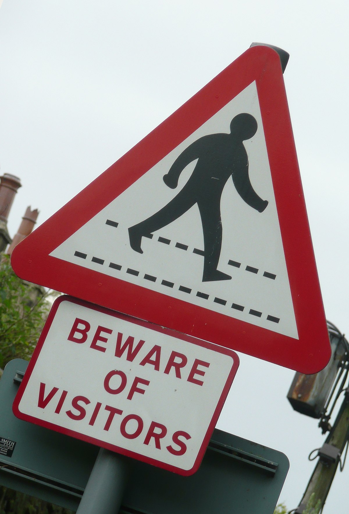
[[[186,190],[186,186],[175,196],[169,203],[162,207],[158,212],[153,214],[144,221],[130,227],[128,236],[130,237],[130,246],[133,250],[143,253],[141,249],[141,241],[143,235],[148,235],[162,227],[166,227],[182,214],[187,212],[196,203],[196,198],[191,191]]]

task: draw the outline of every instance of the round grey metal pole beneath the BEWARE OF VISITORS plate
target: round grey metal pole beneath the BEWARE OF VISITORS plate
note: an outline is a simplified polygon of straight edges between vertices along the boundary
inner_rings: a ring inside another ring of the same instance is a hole
[[[77,514],[117,514],[129,470],[130,463],[125,457],[101,448]]]

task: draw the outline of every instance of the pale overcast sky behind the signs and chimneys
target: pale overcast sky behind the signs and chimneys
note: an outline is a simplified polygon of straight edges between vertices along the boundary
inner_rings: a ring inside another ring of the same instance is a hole
[[[284,80],[326,317],[347,332],[348,11],[338,0],[4,0],[0,166],[23,185],[10,234],[28,205],[43,223],[252,42],[277,45],[290,54]],[[292,371],[240,358],[218,428],[288,456],[280,501],[295,508],[324,438],[286,399]],[[337,472],[324,512],[345,511],[348,481]]]

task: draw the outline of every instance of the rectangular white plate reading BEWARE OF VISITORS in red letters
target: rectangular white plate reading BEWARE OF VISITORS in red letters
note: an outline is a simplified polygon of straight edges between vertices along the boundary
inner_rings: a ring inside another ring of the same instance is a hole
[[[13,411],[190,475],[200,465],[237,367],[237,355],[227,348],[60,297]]]

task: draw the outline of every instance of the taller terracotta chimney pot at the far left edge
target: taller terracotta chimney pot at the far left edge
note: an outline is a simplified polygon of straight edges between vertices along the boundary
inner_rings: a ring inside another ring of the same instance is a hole
[[[0,177],[0,252],[11,243],[7,230],[7,217],[13,204],[14,195],[21,187],[21,180],[14,175],[5,173]]]

